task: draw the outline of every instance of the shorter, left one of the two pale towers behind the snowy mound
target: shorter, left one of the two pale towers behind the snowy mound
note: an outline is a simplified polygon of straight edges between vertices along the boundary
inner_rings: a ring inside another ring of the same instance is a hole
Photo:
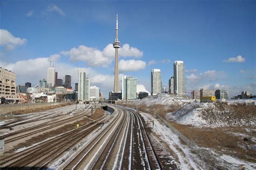
[[[152,69],[151,71],[151,94],[156,95],[162,91],[162,82],[161,82],[161,70]]]

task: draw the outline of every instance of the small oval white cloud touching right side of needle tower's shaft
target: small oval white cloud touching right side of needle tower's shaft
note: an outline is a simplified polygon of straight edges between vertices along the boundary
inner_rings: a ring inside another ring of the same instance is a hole
[[[146,62],[142,60],[120,60],[118,67],[120,72],[138,71],[146,67]]]

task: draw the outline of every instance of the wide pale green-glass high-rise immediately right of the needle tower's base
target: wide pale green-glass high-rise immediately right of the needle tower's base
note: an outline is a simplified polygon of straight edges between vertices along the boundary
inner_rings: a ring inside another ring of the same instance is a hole
[[[137,98],[137,78],[122,77],[122,100],[134,100]]]

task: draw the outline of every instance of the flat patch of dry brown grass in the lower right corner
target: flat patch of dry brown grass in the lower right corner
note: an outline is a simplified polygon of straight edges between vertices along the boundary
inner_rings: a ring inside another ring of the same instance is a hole
[[[256,127],[195,128],[191,125],[170,123],[174,128],[179,130],[186,137],[192,139],[199,146],[214,148],[223,154],[229,154],[242,160],[256,162],[255,151],[253,148],[247,147],[255,145],[251,138],[249,138],[248,141],[244,141],[244,137],[235,136],[233,134],[245,133],[248,136],[255,136],[255,132],[248,134],[245,128],[256,130]]]

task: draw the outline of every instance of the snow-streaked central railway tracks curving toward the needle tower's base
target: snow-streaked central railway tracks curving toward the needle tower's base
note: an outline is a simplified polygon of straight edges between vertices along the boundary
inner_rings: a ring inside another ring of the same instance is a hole
[[[115,110],[119,115],[119,121],[117,117],[116,121],[110,123],[108,128],[93,138],[76,157],[71,158],[61,168],[162,168],[139,115],[130,109],[115,108]],[[116,128],[112,129],[113,126]]]

